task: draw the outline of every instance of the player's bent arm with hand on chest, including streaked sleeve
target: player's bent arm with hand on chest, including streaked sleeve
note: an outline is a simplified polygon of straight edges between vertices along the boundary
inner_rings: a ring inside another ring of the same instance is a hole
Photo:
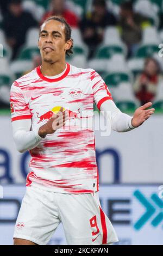
[[[20,153],[35,148],[47,134],[54,133],[61,126],[64,126],[67,120],[67,117],[61,120],[60,117],[54,115],[45,125],[30,131],[32,115],[28,102],[24,99],[17,82],[11,86],[10,105],[13,138]]]

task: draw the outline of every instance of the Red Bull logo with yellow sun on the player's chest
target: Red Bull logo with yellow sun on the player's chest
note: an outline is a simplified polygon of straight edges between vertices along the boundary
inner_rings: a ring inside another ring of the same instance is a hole
[[[47,121],[50,120],[52,118],[53,114],[57,114],[60,111],[60,108],[61,108],[61,106],[53,107],[51,110],[49,110],[48,112],[46,112],[40,116],[39,116],[39,113],[36,112],[37,118],[39,118],[39,121],[37,122],[37,124],[39,124],[40,122],[45,121],[45,120],[47,120]],[[78,112],[74,112],[74,111],[68,110],[66,108],[63,108],[63,109],[64,109],[63,112],[64,111],[68,112],[69,119],[79,118],[79,113],[80,113],[79,109],[80,108],[78,108]]]

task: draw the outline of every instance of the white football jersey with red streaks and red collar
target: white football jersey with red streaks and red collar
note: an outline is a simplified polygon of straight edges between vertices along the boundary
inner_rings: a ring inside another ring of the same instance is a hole
[[[57,78],[43,76],[39,66],[12,84],[11,121],[31,119],[30,130],[35,130],[61,106],[70,114],[64,127],[29,150],[27,186],[72,194],[98,191],[95,136],[90,124],[93,103],[100,108],[106,100],[112,100],[111,94],[95,70],[68,63]]]

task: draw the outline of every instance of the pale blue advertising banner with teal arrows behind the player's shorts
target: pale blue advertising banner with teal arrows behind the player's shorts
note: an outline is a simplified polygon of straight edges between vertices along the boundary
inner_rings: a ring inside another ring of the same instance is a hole
[[[12,235],[25,186],[5,185],[0,199],[0,245],[12,245]],[[160,185],[101,186],[102,209],[114,225],[118,245],[163,245],[163,189]],[[83,216],[84,217],[84,216]],[[49,245],[66,245],[62,224]]]

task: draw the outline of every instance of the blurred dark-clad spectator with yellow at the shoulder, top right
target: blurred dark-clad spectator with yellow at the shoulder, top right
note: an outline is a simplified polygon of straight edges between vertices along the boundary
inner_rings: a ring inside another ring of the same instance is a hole
[[[147,17],[134,13],[133,3],[124,2],[120,6],[120,29],[122,40],[128,47],[128,58],[133,56],[142,38],[142,29],[149,26]]]

